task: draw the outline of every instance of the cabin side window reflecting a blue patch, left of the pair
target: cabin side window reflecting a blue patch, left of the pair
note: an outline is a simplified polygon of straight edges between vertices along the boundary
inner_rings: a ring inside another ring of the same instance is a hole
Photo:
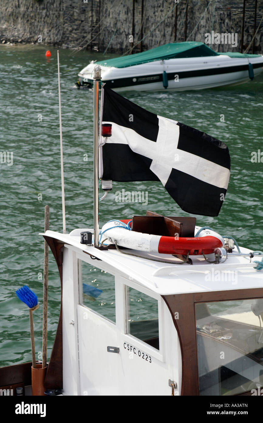
[[[79,304],[116,322],[115,277],[97,266],[78,260]]]

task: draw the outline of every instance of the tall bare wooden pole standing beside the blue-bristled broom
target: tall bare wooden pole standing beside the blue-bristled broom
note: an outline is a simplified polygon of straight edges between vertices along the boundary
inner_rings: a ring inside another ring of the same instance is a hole
[[[49,230],[49,206],[45,206],[45,228]],[[44,241],[44,276],[43,276],[43,348],[42,348],[42,368],[46,367],[47,352],[47,305],[48,305],[48,279],[49,279],[49,246]]]

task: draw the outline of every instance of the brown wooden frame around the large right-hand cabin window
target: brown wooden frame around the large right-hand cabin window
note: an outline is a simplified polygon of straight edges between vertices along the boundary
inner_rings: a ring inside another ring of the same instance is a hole
[[[198,396],[195,303],[263,298],[263,288],[162,295],[176,327],[182,353],[181,395]],[[175,313],[178,313],[175,318]],[[247,394],[249,395],[249,394]]]

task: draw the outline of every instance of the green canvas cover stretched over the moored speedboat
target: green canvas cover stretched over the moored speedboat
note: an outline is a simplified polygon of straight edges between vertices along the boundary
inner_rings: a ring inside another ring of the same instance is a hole
[[[217,53],[214,52],[206,44],[195,41],[184,41],[183,43],[169,43],[164,46],[156,47],[155,49],[147,50],[145,52],[116,57],[114,59],[100,60],[96,65],[113,66],[114,68],[127,68],[128,66],[141,65],[142,63],[154,62],[156,60],[168,60],[191,57],[207,57],[228,55],[231,58],[249,58],[258,57],[260,55],[242,54],[242,53]]]

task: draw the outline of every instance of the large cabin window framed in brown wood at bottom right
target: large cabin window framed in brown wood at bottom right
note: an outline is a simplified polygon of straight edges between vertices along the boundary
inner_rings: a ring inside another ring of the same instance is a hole
[[[195,304],[200,395],[258,394],[263,299]]]

